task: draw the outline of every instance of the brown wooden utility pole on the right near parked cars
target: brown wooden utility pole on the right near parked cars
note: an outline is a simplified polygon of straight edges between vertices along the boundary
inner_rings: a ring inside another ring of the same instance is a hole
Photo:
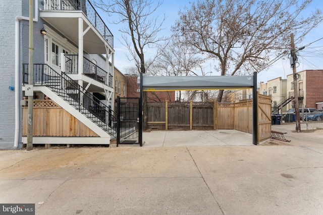
[[[297,90],[297,75],[296,75],[296,50],[294,44],[294,34],[291,33],[291,65],[293,66],[293,79],[294,79],[294,107],[296,114],[296,132],[301,132],[299,108],[298,108],[298,90]]]

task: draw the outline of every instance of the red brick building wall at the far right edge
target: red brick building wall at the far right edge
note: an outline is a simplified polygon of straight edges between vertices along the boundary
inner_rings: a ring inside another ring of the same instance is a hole
[[[323,70],[306,70],[306,107],[323,102]]]

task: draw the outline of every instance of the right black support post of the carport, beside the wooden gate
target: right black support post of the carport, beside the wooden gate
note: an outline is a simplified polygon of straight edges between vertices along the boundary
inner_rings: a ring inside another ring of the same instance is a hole
[[[252,144],[258,144],[258,92],[257,92],[257,73],[253,73],[252,88]]]

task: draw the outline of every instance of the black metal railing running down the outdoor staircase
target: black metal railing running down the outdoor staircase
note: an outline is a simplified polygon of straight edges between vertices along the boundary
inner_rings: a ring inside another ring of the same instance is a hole
[[[24,63],[24,84],[28,84],[28,69],[28,63]],[[117,121],[117,114],[111,108],[99,101],[65,73],[62,72],[61,75],[47,64],[34,64],[33,70],[33,84],[35,86],[50,87],[103,130],[114,137],[117,136],[116,130],[112,128],[113,122]]]

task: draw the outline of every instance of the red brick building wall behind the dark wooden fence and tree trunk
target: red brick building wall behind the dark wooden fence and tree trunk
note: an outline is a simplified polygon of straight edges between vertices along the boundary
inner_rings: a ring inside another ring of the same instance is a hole
[[[137,92],[137,76],[126,75],[127,77],[127,97],[139,97]],[[155,91],[147,92],[148,102],[175,102],[175,91]]]

